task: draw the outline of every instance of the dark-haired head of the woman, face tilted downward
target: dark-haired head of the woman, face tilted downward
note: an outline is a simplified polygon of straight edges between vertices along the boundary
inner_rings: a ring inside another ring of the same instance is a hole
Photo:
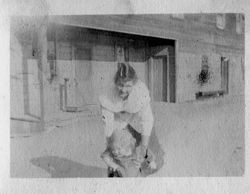
[[[133,67],[125,63],[118,64],[114,82],[122,98],[126,98],[129,95],[137,80],[138,77]]]

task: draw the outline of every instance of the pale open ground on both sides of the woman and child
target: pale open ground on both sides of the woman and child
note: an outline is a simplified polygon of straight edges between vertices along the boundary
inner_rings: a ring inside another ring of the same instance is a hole
[[[151,176],[244,174],[244,98],[154,103],[164,166]],[[78,116],[63,127],[11,137],[11,177],[105,177],[99,116]]]

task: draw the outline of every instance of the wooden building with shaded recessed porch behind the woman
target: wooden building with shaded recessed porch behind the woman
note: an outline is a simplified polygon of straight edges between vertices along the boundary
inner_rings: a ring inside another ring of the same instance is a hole
[[[244,96],[242,14],[12,17],[10,41],[13,134],[97,113],[119,62],[155,102]]]

